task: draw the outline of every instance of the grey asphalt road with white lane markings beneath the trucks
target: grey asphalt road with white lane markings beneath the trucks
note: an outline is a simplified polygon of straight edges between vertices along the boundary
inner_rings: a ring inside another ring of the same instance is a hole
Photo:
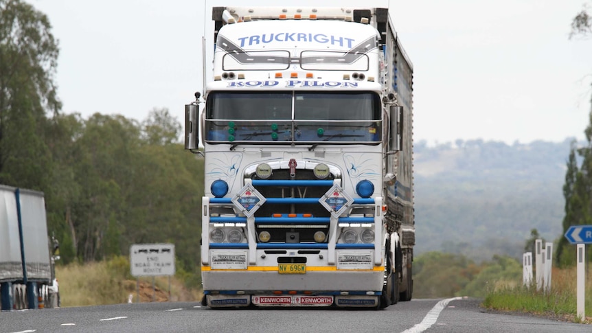
[[[592,332],[591,325],[494,314],[477,299],[419,299],[385,310],[212,310],[200,303],[126,303],[0,312],[0,332]]]

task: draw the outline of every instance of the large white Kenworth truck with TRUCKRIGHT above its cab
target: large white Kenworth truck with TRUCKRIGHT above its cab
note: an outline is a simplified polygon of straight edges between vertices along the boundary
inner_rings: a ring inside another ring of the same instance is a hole
[[[388,9],[212,20],[212,75],[185,106],[185,148],[205,159],[203,304],[409,301],[413,67]]]

